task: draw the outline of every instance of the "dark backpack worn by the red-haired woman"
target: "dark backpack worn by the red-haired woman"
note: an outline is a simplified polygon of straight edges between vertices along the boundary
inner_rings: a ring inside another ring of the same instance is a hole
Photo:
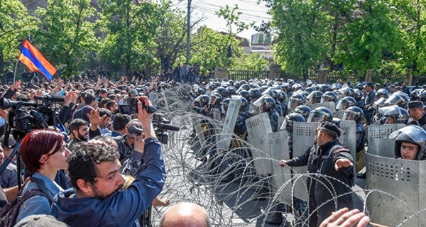
[[[22,187],[22,192],[23,192]],[[3,209],[0,212],[0,227],[12,227],[16,224],[16,218],[18,218],[19,209],[21,208],[21,205],[23,202],[25,202],[27,199],[30,199],[33,196],[45,196],[48,198],[48,201],[50,204],[52,204],[52,199],[50,199],[50,196],[48,194],[45,194],[41,189],[31,189],[28,192],[21,194],[22,192],[19,192],[18,196],[16,196],[15,199],[9,204],[6,204],[6,206],[3,207]]]

